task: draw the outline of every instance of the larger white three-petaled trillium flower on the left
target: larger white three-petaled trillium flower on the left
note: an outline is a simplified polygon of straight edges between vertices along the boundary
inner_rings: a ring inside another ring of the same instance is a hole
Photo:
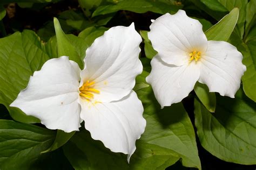
[[[78,131],[84,120],[93,139],[128,154],[129,161],[146,126],[142,102],[132,90],[143,69],[140,42],[134,24],[112,27],[87,48],[83,70],[68,56],[50,59],[11,106],[48,129]]]

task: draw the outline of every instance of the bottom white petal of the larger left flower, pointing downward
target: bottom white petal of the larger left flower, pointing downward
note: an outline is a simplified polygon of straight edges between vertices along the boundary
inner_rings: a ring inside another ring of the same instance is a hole
[[[80,102],[81,118],[85,129],[95,140],[103,142],[112,152],[128,154],[128,161],[136,150],[135,142],[144,132],[143,105],[136,93],[131,93],[120,101],[110,103]]]

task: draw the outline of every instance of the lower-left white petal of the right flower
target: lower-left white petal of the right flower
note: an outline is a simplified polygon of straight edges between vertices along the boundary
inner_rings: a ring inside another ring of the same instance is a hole
[[[152,70],[146,81],[151,84],[161,108],[178,103],[193,90],[199,79],[198,63],[169,65],[157,55],[151,60]]]

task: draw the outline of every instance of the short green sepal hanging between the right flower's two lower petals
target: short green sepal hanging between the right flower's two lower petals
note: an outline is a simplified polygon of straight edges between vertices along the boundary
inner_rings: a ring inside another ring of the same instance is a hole
[[[209,93],[209,89],[205,84],[199,82],[194,86],[194,92],[199,100],[204,104],[208,111],[214,112],[216,107],[215,93]]]

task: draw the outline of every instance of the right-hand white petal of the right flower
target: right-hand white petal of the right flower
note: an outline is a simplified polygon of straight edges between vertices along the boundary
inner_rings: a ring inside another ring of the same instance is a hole
[[[237,48],[224,41],[208,41],[207,51],[200,62],[199,82],[207,84],[211,92],[234,97],[246,70]]]

